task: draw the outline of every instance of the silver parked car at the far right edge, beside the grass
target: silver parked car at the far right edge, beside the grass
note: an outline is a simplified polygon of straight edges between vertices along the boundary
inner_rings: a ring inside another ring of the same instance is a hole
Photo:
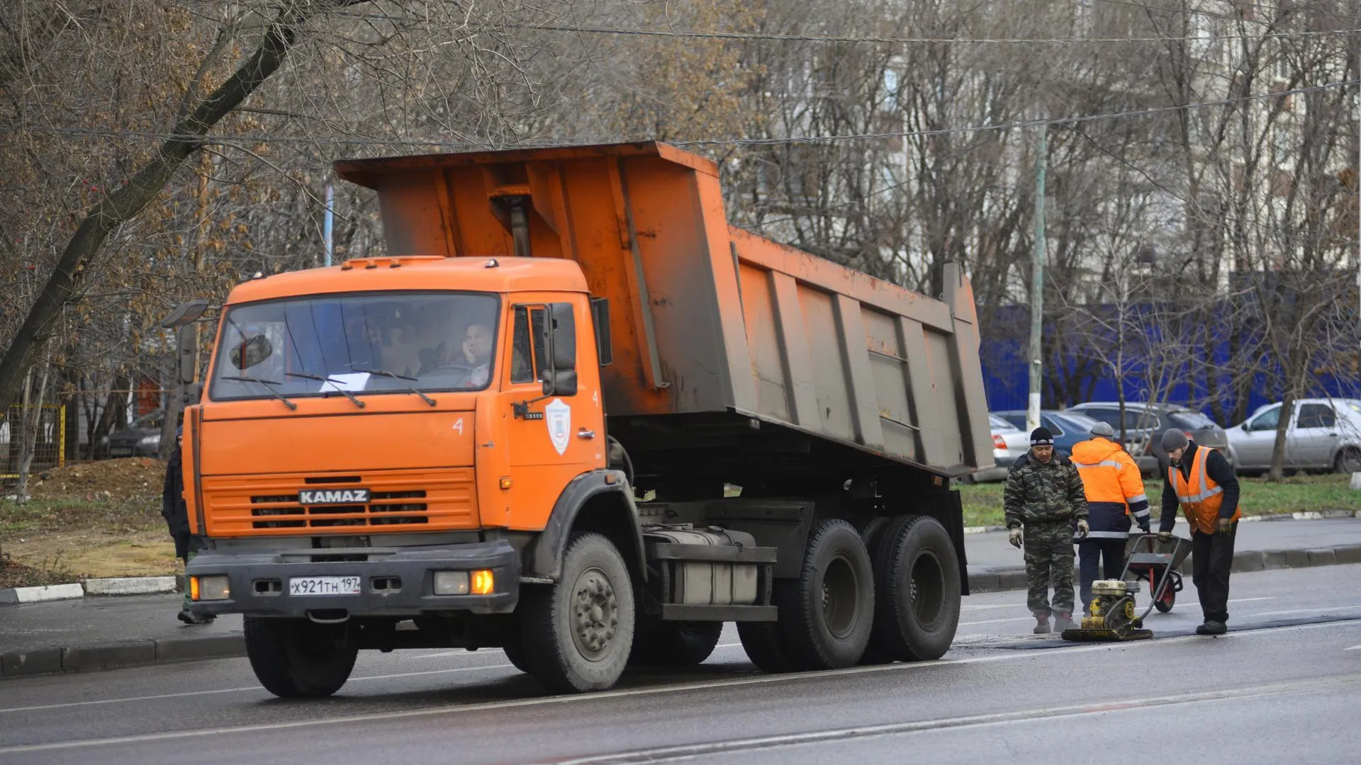
[[[1271,467],[1281,404],[1267,404],[1229,429],[1229,444],[1240,472]],[[1361,471],[1361,402],[1298,399],[1285,432],[1285,467],[1290,470]]]

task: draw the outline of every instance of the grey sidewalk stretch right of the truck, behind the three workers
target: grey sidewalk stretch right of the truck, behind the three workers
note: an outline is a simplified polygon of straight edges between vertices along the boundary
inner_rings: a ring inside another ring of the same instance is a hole
[[[1188,534],[1179,519],[1177,536]],[[1007,543],[1007,532],[970,534],[964,540],[969,557],[969,588],[974,592],[1023,589],[1025,561]],[[1233,546],[1234,572],[1361,564],[1361,519],[1283,520],[1240,523]],[[1187,558],[1185,570],[1191,561]]]

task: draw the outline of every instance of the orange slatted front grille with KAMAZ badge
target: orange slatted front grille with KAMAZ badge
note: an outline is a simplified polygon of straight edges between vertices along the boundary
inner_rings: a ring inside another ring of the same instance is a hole
[[[308,505],[301,489],[333,485],[369,489],[365,504]],[[476,528],[476,487],[471,468],[393,471],[362,476],[204,476],[208,534],[240,536],[306,530],[421,531]]]

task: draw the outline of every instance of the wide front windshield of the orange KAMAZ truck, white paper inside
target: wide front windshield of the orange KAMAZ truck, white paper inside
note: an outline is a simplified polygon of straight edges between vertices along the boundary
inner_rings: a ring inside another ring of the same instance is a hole
[[[478,293],[366,293],[231,306],[208,395],[479,391],[491,381],[497,313],[497,297]]]

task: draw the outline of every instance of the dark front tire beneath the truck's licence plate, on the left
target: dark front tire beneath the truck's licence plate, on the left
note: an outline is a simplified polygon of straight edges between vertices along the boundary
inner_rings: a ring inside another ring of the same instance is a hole
[[[359,649],[346,625],[308,619],[245,617],[246,657],[260,685],[282,698],[320,698],[350,679]]]

